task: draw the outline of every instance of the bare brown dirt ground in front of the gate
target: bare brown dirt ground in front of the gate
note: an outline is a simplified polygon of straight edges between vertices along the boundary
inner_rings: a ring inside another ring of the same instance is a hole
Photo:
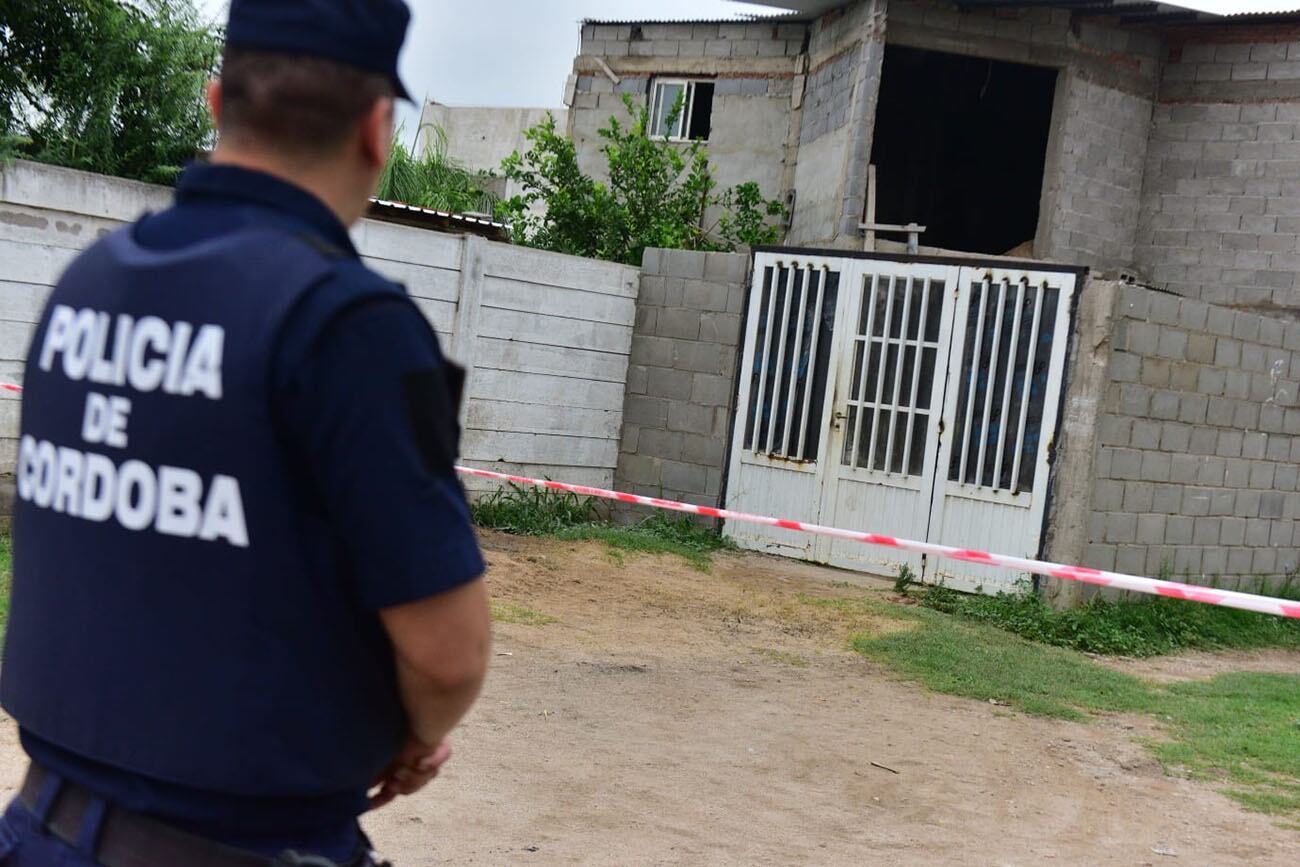
[[[556,620],[497,624],[443,776],[367,819],[398,867],[1300,863],[1300,833],[1165,776],[1147,718],[1030,718],[848,651],[907,627],[796,599],[848,593],[842,573],[485,543],[494,595]],[[1212,659],[1196,676],[1234,664]],[[12,790],[23,762],[0,732]]]

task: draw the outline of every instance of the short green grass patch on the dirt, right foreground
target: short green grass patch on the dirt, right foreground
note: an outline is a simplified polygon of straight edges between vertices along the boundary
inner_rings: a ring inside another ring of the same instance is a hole
[[[1247,809],[1300,828],[1300,676],[1238,672],[1160,685],[965,612],[868,599],[816,602],[887,607],[896,617],[918,620],[916,629],[859,634],[853,647],[936,692],[1057,719],[1149,714],[1170,737],[1152,745],[1166,768],[1213,780]]]

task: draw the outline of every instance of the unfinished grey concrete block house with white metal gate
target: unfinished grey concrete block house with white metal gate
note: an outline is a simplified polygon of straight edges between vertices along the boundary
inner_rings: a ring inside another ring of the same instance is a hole
[[[647,255],[619,481],[1230,586],[1296,569],[1300,14],[772,5],[796,12],[582,26],[586,170],[630,94],[720,183],[789,205],[734,296],[723,265]],[[963,589],[1022,577],[728,532]]]

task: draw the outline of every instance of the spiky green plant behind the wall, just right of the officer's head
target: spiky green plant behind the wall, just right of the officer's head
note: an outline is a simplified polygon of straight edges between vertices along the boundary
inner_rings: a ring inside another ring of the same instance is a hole
[[[442,127],[425,125],[425,151],[415,156],[402,142],[402,130],[393,140],[389,164],[384,166],[380,199],[400,201],[419,208],[451,213],[493,213],[497,196],[486,190],[491,175],[472,172],[447,153],[447,134]]]

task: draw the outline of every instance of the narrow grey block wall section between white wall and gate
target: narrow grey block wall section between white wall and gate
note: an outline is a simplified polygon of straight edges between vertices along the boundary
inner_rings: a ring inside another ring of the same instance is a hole
[[[718,506],[748,274],[741,253],[645,252],[619,490]]]

